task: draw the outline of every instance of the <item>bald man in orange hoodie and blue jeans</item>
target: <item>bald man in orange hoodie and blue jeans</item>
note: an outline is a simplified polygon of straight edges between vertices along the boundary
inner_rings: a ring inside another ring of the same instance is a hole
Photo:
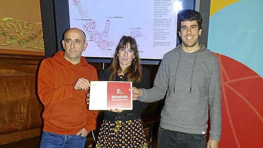
[[[88,133],[96,128],[98,111],[90,111],[85,96],[89,81],[97,81],[96,69],[81,54],[88,46],[78,28],[65,32],[64,51],[42,61],[38,94],[44,105],[41,148],[83,148]]]

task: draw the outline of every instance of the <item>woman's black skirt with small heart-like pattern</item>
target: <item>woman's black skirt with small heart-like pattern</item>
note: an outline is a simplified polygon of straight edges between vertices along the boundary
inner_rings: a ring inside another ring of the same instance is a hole
[[[103,120],[96,148],[147,148],[142,121]]]

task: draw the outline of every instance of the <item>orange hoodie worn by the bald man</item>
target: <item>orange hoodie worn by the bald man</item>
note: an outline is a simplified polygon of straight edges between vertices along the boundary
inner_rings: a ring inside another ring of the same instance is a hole
[[[98,111],[87,109],[87,91],[74,89],[76,81],[83,77],[97,81],[96,69],[81,57],[73,65],[58,51],[54,57],[41,62],[38,73],[38,95],[44,104],[44,131],[62,135],[77,134],[83,127],[90,132],[96,128]]]

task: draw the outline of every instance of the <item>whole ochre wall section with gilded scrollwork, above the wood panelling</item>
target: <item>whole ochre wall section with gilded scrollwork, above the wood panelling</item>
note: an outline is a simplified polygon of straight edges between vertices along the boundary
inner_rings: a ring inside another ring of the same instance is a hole
[[[1,1],[0,53],[44,55],[38,0]]]

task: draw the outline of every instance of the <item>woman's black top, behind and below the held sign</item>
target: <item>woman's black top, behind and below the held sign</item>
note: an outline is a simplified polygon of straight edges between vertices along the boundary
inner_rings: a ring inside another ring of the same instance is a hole
[[[111,70],[110,68],[106,68],[100,71],[99,74],[99,80],[100,81],[109,81],[109,77],[111,75]],[[115,81],[126,81],[126,74],[123,76],[121,79],[117,74],[115,77]],[[136,87],[138,89],[144,88],[144,89],[149,89],[150,87],[150,72],[148,69],[143,68],[142,69],[142,78],[140,82],[133,83],[133,87]],[[109,112],[109,111],[103,111],[104,113],[104,119],[109,120],[111,122],[114,122],[116,120],[134,120],[137,118],[141,118],[141,114],[144,109],[147,107],[147,103],[140,102],[138,100],[132,101],[132,110],[124,110],[123,112],[120,113],[115,113],[115,112]]]

